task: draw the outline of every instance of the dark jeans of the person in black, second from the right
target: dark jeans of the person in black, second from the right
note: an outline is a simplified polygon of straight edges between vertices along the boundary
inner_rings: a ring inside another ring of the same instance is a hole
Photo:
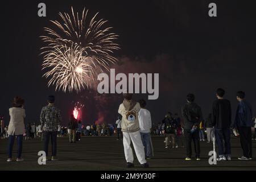
[[[214,129],[214,130],[215,130],[216,142],[218,145],[218,156],[220,158],[222,156],[231,156],[230,129],[223,128],[223,129]]]

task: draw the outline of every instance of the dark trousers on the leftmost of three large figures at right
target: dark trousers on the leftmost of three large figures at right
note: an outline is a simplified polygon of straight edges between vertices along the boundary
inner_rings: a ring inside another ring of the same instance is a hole
[[[200,142],[199,142],[199,130],[197,129],[193,133],[191,130],[184,130],[184,137],[186,143],[187,157],[191,158],[192,156],[192,140],[195,146],[196,158],[200,157]]]

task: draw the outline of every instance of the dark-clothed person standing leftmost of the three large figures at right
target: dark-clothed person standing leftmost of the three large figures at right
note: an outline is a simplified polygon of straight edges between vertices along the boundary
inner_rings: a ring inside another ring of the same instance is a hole
[[[201,107],[195,102],[195,95],[189,93],[187,95],[187,103],[181,108],[181,113],[184,119],[184,137],[187,150],[187,158],[191,160],[193,140],[196,152],[196,160],[200,160],[200,142],[199,142],[199,123],[203,120]]]

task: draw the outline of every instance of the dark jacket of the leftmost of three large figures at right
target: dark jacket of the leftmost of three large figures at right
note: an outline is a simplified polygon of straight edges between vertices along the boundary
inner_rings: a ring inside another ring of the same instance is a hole
[[[201,107],[196,103],[187,103],[181,108],[182,117],[184,119],[184,129],[191,130],[194,123],[203,121]]]

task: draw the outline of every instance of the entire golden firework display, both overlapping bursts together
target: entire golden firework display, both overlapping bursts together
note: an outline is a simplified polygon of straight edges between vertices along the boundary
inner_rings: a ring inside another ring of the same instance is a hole
[[[109,64],[117,62],[112,55],[119,45],[114,43],[118,35],[110,32],[112,27],[105,27],[106,20],[94,15],[88,19],[88,10],[80,16],[71,7],[72,14],[59,13],[60,21],[51,20],[53,28],[44,28],[42,40],[47,43],[43,69],[48,69],[45,77],[51,77],[49,85],[56,90],[80,91],[91,86],[97,72],[109,71]]]

